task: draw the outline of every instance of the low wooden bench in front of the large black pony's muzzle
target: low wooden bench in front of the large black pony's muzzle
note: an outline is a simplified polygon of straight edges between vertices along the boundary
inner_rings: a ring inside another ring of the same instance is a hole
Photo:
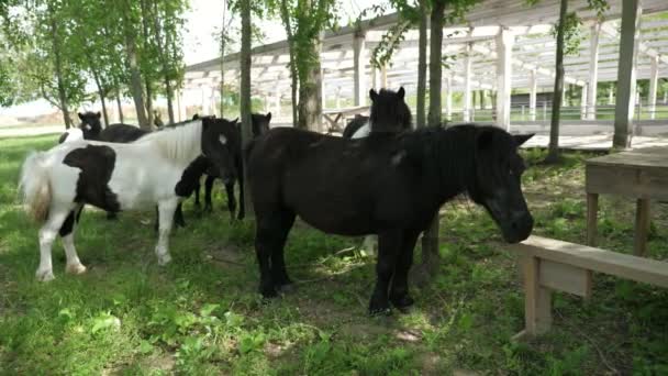
[[[666,262],[541,236],[530,236],[510,248],[522,258],[525,295],[525,328],[514,339],[549,330],[553,290],[589,298],[593,272],[668,288]]]

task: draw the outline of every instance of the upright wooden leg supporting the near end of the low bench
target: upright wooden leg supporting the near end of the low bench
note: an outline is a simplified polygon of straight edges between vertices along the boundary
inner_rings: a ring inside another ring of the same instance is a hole
[[[525,334],[545,333],[552,327],[552,291],[541,287],[541,261],[524,257],[524,320]]]

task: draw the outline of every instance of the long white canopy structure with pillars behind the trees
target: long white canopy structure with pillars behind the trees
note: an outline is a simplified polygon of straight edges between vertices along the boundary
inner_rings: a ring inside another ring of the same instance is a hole
[[[650,80],[646,100],[650,108],[656,103],[657,79],[668,77],[668,1],[624,0],[627,8],[630,3],[638,4],[636,12],[625,9],[624,16],[630,19],[632,26],[639,23],[639,33],[631,42],[627,38],[625,45],[621,42],[622,0],[609,3],[604,21],[600,22],[587,0],[569,1],[569,11],[575,11],[583,25],[579,53],[565,57],[565,80],[584,88],[582,119],[595,119],[597,84],[617,81],[620,74],[625,75],[617,69],[625,66],[624,59],[631,62],[628,66],[635,79]],[[530,92],[528,120],[535,120],[536,93],[552,92],[554,85],[556,48],[550,32],[558,10],[559,0],[543,0],[534,7],[527,5],[525,0],[486,0],[468,13],[466,21],[444,29],[444,56],[454,57],[443,75],[446,113],[453,110],[453,92],[463,93],[463,118],[468,120],[471,90],[496,90],[497,122],[508,126],[511,90],[522,89]],[[397,14],[389,14],[366,20],[359,29],[346,26],[325,33],[321,54],[323,98],[350,98],[355,106],[364,106],[369,88],[404,86],[409,93],[414,90],[417,30],[408,33],[389,66],[377,71],[369,63],[370,51],[397,22]],[[621,55],[620,51],[627,51],[625,48],[637,55]],[[230,54],[223,58],[225,82],[234,85],[240,55]],[[290,99],[288,62],[287,41],[253,48],[253,93],[265,98],[275,111],[280,109],[281,100]],[[186,90],[202,90],[202,103],[211,112],[215,110],[204,102],[216,96],[220,68],[221,58],[215,58],[186,69]],[[630,97],[632,101],[636,99]]]

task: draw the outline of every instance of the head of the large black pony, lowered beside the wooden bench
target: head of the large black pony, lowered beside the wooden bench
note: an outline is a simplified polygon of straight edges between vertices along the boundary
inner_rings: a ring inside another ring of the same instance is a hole
[[[487,209],[509,243],[525,240],[533,230],[521,186],[524,161],[517,154],[517,147],[532,136],[511,135],[496,126],[479,128],[476,136],[476,174],[468,193]]]

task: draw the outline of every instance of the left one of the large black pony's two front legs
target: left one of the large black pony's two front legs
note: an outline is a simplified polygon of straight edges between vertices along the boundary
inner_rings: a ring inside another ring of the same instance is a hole
[[[369,302],[369,314],[390,314],[388,288],[397,267],[397,258],[403,243],[400,231],[378,235],[378,261],[376,262],[376,287]]]

